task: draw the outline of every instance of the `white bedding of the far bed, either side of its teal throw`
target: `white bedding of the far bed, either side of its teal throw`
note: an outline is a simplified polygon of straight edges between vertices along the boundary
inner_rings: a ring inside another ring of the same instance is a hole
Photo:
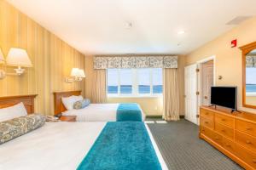
[[[77,116],[77,122],[115,122],[119,104],[90,104],[84,109],[64,111],[64,116]],[[142,120],[145,115],[142,111]]]

